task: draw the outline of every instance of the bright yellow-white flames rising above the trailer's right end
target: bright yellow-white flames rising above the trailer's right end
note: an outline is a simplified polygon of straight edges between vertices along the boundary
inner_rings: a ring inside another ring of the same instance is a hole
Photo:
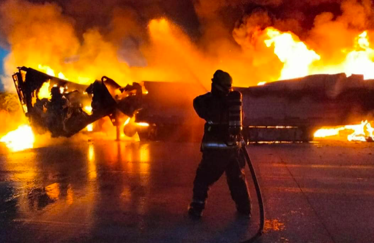
[[[267,47],[274,46],[274,54],[284,64],[278,80],[304,77],[311,74],[346,73],[362,74],[364,79],[374,78],[374,49],[370,47],[368,31],[363,31],[354,40],[351,51],[346,53],[345,60],[339,65],[320,66],[315,61],[321,56],[299,40],[292,32],[281,32],[273,27],[267,27],[264,32],[268,37],[264,40]],[[258,83],[263,85],[264,82]]]

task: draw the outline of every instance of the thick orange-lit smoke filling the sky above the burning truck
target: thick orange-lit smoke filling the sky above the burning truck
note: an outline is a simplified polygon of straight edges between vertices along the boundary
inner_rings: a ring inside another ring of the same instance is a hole
[[[315,50],[313,73],[337,66],[355,37],[373,28],[372,0],[5,0],[0,44],[7,90],[17,66],[50,66],[72,81],[106,75],[210,86],[216,69],[238,86],[274,81],[283,63],[264,29],[290,31]],[[343,50],[343,51],[342,51]],[[337,71],[338,68],[336,68]]]

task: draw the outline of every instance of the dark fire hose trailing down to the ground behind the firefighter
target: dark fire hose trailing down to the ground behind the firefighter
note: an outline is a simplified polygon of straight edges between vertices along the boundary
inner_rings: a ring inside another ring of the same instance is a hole
[[[254,242],[258,237],[260,237],[264,232],[265,210],[264,210],[264,202],[263,202],[263,197],[261,195],[260,185],[259,185],[259,182],[258,182],[257,177],[256,177],[256,172],[255,172],[255,169],[253,168],[251,158],[249,157],[247,148],[245,146],[242,146],[242,152],[245,156],[245,160],[247,161],[249,170],[251,171],[253,183],[254,183],[255,189],[256,189],[257,199],[258,199],[258,202],[259,202],[259,210],[260,210],[260,227],[259,227],[259,230],[257,231],[257,233],[252,238],[250,238],[247,241],[242,242],[242,243],[251,243],[251,242]]]

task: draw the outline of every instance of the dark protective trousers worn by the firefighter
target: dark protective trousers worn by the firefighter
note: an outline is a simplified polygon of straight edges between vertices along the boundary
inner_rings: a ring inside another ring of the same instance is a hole
[[[225,172],[231,197],[238,211],[250,213],[251,201],[244,166],[242,150],[204,150],[194,180],[193,203],[199,203],[203,209],[209,187]]]

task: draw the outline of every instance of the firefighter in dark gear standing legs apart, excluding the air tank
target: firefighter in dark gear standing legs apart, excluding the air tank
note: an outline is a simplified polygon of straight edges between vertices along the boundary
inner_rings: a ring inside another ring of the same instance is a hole
[[[196,97],[193,102],[196,113],[206,123],[200,148],[202,159],[196,171],[193,199],[188,207],[188,214],[192,218],[201,217],[209,187],[223,173],[226,174],[238,213],[250,218],[251,201],[244,174],[242,135],[234,142],[228,141],[228,96],[231,91],[231,76],[227,72],[217,70],[213,75],[211,92]]]

